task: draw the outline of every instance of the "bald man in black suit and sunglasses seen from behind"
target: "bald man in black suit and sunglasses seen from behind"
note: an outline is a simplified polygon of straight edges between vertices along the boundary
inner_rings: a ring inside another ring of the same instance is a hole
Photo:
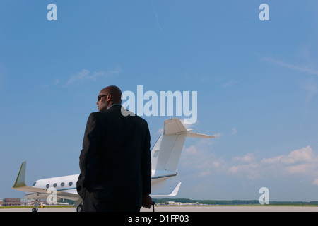
[[[148,124],[122,114],[121,96],[117,86],[102,89],[88,117],[76,186],[83,211],[139,212],[153,203]]]

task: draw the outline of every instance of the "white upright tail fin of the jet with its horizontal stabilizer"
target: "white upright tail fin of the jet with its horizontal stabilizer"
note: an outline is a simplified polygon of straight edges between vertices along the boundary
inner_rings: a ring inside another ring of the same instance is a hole
[[[184,127],[180,119],[164,121],[163,134],[151,150],[151,168],[155,171],[175,172],[184,141],[187,137],[215,138],[201,133],[192,133],[193,129]]]

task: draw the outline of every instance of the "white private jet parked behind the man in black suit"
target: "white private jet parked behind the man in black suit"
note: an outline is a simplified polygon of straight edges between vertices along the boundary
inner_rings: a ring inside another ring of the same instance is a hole
[[[215,138],[201,133],[192,133],[193,129],[186,129],[180,119],[167,119],[163,123],[163,134],[151,150],[151,191],[157,191],[165,186],[165,182],[170,177],[177,175],[176,169],[179,162],[179,157],[182,152],[184,141],[187,137],[194,138]],[[76,191],[76,182],[78,174],[65,177],[52,177],[47,179],[39,179],[34,182],[33,186],[25,184],[25,167],[26,162],[23,162],[16,182],[12,189],[18,191],[26,191],[25,198],[35,200],[33,212],[37,212],[37,206],[42,199],[47,199],[52,194],[56,198],[66,198],[76,201],[74,207],[81,212],[82,199]],[[177,184],[171,194],[168,195],[151,195],[151,197],[167,197],[175,196],[179,191],[181,182]]]

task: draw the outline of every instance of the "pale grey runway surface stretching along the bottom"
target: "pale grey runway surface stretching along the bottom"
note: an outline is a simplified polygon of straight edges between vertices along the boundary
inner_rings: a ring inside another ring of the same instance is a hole
[[[31,208],[4,208],[1,212],[31,212]],[[76,212],[76,208],[39,208],[38,212]],[[141,212],[152,212],[141,208]],[[318,212],[317,206],[155,206],[155,212]]]

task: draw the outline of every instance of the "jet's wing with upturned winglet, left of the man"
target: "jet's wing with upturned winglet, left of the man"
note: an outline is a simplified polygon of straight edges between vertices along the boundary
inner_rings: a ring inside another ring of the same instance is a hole
[[[20,171],[18,173],[18,177],[16,177],[16,182],[14,183],[12,189],[18,190],[18,191],[42,193],[42,194],[48,194],[48,195],[51,194],[51,191],[47,191],[47,189],[41,189],[34,186],[27,186],[25,184],[25,168],[26,168],[26,161],[22,162]],[[57,191],[57,196],[59,198],[68,198],[68,199],[76,200],[76,201],[79,198],[77,192]]]

